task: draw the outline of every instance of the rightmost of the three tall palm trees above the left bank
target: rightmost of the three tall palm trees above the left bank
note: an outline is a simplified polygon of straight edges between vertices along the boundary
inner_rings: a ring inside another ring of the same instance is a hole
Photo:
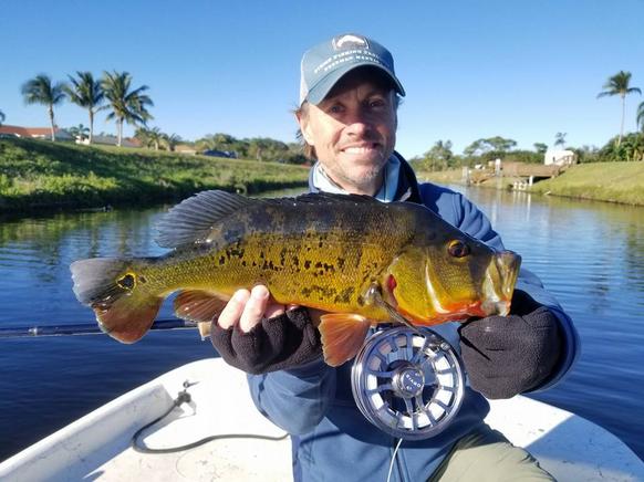
[[[147,85],[131,91],[132,75],[127,72],[103,72],[101,86],[105,92],[105,97],[110,101],[112,112],[107,114],[107,120],[116,119],[117,146],[123,140],[123,122],[136,125],[153,118],[147,112],[148,106],[153,106],[152,99],[144,94],[148,90]]]

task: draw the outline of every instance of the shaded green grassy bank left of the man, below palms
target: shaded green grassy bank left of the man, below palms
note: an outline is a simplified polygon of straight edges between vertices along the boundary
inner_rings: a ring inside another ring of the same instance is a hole
[[[204,189],[304,186],[308,169],[148,149],[0,140],[0,211],[152,205]]]

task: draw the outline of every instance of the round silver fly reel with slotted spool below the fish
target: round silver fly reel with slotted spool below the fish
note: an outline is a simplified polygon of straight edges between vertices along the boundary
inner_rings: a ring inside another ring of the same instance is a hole
[[[405,440],[443,431],[458,412],[465,375],[456,350],[422,327],[385,328],[366,340],[351,370],[356,405],[378,429]]]

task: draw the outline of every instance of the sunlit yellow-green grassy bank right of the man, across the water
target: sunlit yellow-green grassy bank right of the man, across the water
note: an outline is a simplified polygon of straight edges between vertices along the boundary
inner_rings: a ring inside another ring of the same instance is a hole
[[[420,172],[419,179],[437,184],[463,184],[459,169]],[[509,189],[515,178],[497,178],[480,187]],[[577,199],[644,206],[644,163],[592,163],[572,166],[559,177],[536,182],[531,192]]]

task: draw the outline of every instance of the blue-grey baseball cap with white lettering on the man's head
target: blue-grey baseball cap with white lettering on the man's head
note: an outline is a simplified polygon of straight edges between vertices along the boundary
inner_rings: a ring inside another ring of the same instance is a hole
[[[333,86],[352,70],[373,66],[385,72],[396,92],[405,90],[394,73],[394,57],[376,41],[356,33],[344,33],[304,52],[301,63],[300,105],[319,104]]]

